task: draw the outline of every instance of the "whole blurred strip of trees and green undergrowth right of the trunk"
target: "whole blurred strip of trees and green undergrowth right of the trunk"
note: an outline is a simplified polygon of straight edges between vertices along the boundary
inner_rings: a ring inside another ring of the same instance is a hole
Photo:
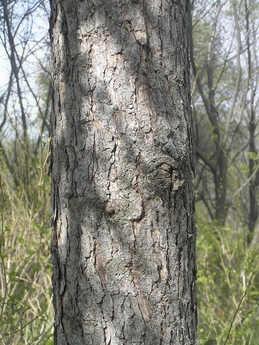
[[[258,4],[192,1],[189,20],[199,334],[257,344]]]

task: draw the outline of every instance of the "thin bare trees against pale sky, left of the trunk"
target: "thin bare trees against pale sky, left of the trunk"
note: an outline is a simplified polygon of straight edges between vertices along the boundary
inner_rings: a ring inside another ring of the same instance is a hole
[[[50,136],[50,72],[44,59],[49,56],[49,41],[42,27],[48,12],[42,0],[1,0],[0,5],[1,52],[5,53],[0,88],[1,157],[16,187],[21,181],[31,187],[30,160],[37,156],[41,135]],[[47,88],[41,90],[42,98],[39,83]],[[31,193],[30,188],[27,192]]]

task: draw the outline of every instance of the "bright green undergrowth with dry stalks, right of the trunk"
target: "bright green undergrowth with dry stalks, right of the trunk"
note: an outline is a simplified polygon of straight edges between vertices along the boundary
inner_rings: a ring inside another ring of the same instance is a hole
[[[198,320],[201,344],[259,344],[259,252],[245,229],[197,217]]]

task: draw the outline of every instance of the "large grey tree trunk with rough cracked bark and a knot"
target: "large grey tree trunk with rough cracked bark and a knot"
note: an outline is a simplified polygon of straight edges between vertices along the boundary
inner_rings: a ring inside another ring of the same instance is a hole
[[[51,7],[55,344],[197,344],[187,0]]]

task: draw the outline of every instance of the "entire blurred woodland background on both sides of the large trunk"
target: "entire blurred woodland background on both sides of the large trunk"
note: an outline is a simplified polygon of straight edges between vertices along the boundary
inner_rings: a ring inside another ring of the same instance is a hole
[[[0,344],[51,345],[47,0],[0,0]],[[259,1],[189,6],[201,344],[259,344]]]

